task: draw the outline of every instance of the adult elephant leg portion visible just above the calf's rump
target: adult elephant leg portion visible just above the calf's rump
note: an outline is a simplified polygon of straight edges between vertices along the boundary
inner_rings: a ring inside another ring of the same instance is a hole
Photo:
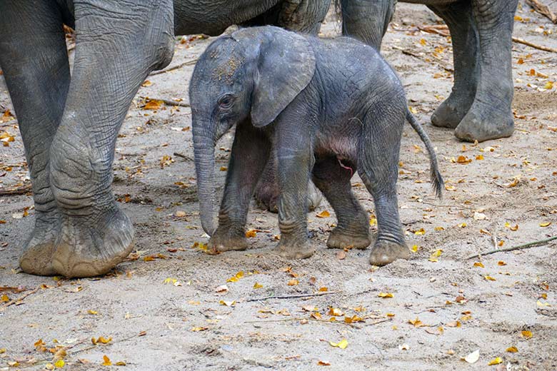
[[[338,0],[336,0],[338,1]],[[381,49],[381,40],[393,18],[394,0],[340,0],[342,34]]]

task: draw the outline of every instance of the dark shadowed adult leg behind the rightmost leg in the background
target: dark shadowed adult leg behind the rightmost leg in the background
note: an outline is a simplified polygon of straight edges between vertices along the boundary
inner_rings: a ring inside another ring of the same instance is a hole
[[[431,116],[434,126],[456,128],[476,97],[478,85],[478,31],[468,1],[430,6],[451,31],[453,41],[454,85],[451,95]]]

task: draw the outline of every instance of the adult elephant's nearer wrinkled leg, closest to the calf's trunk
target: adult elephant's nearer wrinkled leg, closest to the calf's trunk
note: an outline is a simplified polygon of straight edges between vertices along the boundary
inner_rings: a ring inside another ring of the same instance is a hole
[[[51,146],[51,189],[61,214],[52,258],[66,277],[101,275],[134,237],[111,191],[116,136],[147,74],[173,50],[172,2],[74,1],[76,57]]]

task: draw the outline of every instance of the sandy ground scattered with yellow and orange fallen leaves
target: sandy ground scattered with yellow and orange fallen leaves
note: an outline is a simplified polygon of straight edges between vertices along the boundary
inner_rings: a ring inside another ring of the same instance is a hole
[[[516,36],[556,48],[557,27],[521,6]],[[327,250],[336,220],[326,203],[308,215],[317,247],[308,260],[269,255],[276,215],[255,207],[248,228],[259,232],[249,250],[213,256],[192,248],[207,238],[199,223],[189,108],[144,110],[140,98],[187,102],[192,66],[184,66],[149,77],[151,86],[140,89],[121,130],[114,193],[134,221],[136,251],[113,273],[84,280],[21,273],[17,259],[33,224],[32,199],[0,198],[0,285],[28,289],[0,293],[7,296],[2,301],[23,298],[9,307],[0,302],[0,370],[53,367],[45,347],[59,356],[65,351],[69,370],[110,368],[101,365],[105,355],[112,365],[125,362],[123,370],[555,370],[555,245],[489,255],[483,267],[465,258],[492,250],[494,239],[504,248],[557,235],[557,83],[543,91],[557,80],[557,54],[514,44],[516,133],[461,143],[428,123],[451,88],[444,69],[452,64],[451,45],[413,24],[437,22],[425,6],[399,4],[383,44],[409,105],[426,123],[448,188],[442,201],[433,199],[426,153],[407,126],[398,194],[408,244],[417,248],[411,260],[375,270],[366,250]],[[329,19],[322,31],[335,36],[338,24]],[[210,41],[177,43],[171,66],[195,59]],[[0,104],[11,108],[1,76]],[[15,123],[1,127],[15,137],[0,147],[4,189],[26,177]],[[226,166],[230,146],[228,135],[218,145],[217,166]],[[459,163],[460,156],[471,161]],[[225,173],[219,172],[220,190]],[[353,185],[373,213],[357,176]],[[24,210],[29,215],[21,218]],[[317,218],[323,210],[331,216]],[[239,272],[243,278],[227,283]],[[220,285],[228,290],[216,293]],[[316,292],[328,295],[254,300]],[[328,321],[333,316],[336,322]],[[363,322],[346,324],[344,317]],[[93,337],[111,340],[94,345]],[[344,349],[329,343],[343,339]],[[476,350],[477,362],[461,359]],[[496,357],[501,364],[488,366]]]

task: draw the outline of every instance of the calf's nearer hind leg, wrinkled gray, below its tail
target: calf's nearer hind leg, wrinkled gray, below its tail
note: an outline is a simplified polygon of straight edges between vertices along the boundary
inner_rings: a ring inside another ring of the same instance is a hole
[[[373,123],[365,125],[366,140],[361,141],[358,149],[358,174],[373,195],[377,215],[377,239],[369,256],[372,265],[386,265],[410,256],[396,197],[398,153],[404,123],[403,116],[396,111],[403,112],[405,106],[406,102],[401,102],[401,107],[393,110],[393,103],[383,103],[376,108]]]

